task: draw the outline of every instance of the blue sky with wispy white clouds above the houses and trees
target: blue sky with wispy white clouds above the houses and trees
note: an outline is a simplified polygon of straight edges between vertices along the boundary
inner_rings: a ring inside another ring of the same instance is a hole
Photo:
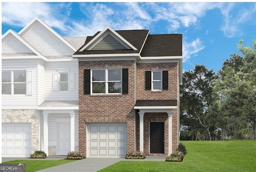
[[[239,53],[240,39],[251,47],[256,40],[256,2],[2,2],[2,34],[35,17],[61,36],[92,36],[106,26],[182,34],[183,71],[203,64],[218,72],[222,59]]]

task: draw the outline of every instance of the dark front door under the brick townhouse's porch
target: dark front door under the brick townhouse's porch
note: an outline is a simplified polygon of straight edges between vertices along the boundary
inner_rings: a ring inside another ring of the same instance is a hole
[[[164,154],[164,122],[150,122],[150,154]]]

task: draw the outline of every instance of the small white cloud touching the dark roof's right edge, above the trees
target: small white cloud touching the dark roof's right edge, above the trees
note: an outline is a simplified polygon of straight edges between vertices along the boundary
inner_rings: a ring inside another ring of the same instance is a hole
[[[183,62],[186,62],[191,56],[197,56],[197,53],[204,49],[204,45],[200,38],[196,38],[191,42],[183,41],[182,44],[182,56]]]

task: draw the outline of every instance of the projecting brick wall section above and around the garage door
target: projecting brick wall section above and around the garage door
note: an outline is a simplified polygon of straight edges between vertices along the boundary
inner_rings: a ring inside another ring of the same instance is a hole
[[[115,95],[85,95],[84,69],[90,68],[128,68],[129,93]],[[127,150],[135,150],[135,61],[92,61],[79,62],[79,151],[86,154],[86,122],[126,122]],[[131,134],[132,133],[132,134]]]

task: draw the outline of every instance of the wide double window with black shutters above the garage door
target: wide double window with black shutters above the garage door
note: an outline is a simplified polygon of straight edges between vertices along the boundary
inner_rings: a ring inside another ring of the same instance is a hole
[[[84,70],[84,94],[128,94],[128,69]]]

